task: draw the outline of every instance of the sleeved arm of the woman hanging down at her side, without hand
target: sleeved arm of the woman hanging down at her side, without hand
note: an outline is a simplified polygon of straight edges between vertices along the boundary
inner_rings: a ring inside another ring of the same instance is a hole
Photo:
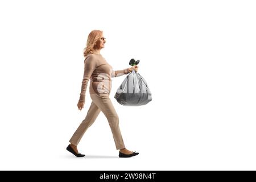
[[[84,60],[84,77],[82,78],[82,86],[80,93],[80,102],[85,102],[85,93],[88,85],[88,81],[92,76],[94,69],[97,67],[97,59],[94,58],[93,55],[89,55]]]

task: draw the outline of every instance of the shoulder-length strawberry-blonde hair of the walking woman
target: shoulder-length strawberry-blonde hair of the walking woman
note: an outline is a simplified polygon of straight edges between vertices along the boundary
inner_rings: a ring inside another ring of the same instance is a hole
[[[84,57],[86,57],[89,53],[93,53],[95,49],[100,48],[100,39],[103,31],[101,30],[93,30],[90,32],[87,38],[86,47],[84,48]]]

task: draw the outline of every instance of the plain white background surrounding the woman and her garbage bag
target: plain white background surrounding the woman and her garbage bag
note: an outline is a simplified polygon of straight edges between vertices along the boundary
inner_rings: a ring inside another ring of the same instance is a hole
[[[255,170],[255,1],[1,1],[0,169]],[[65,150],[90,106],[77,109],[90,31],[114,70],[141,60],[152,101],[110,98],[126,147],[120,159],[100,114]]]

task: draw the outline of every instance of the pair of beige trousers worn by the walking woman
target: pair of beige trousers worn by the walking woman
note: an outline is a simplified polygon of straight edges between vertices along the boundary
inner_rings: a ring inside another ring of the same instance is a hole
[[[98,114],[100,114],[100,111],[102,111],[108,119],[115,142],[115,147],[117,150],[125,148],[121,131],[119,129],[119,118],[112,102],[110,101],[109,94],[90,94],[90,98],[92,98],[92,104],[90,105],[87,115],[69,142],[77,146],[85,131],[94,123],[98,117]]]

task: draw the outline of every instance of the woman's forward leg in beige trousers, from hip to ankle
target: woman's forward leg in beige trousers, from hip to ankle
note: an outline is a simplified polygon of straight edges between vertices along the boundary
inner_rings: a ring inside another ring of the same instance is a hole
[[[108,94],[90,94],[90,97],[108,119],[117,150],[125,148],[121,131],[119,129],[119,118]]]

